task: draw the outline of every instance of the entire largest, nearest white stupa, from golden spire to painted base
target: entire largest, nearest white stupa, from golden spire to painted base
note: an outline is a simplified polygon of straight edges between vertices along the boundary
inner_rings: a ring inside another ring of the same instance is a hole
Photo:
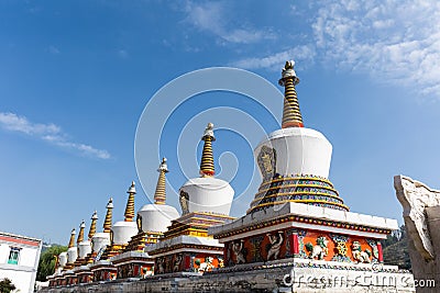
[[[397,228],[397,222],[349,212],[328,179],[331,144],[320,132],[304,127],[294,65],[287,61],[279,79],[285,88],[282,128],[255,148],[263,180],[246,215],[209,228],[209,234],[224,244],[227,268],[222,271],[235,277],[244,270],[256,280],[255,271],[270,269],[260,275],[276,277],[284,267],[295,284],[289,285],[289,292],[341,291],[333,285],[315,286],[315,280],[304,282],[304,275],[326,280],[389,278],[389,272],[398,270],[383,264],[381,240]],[[378,286],[370,282],[367,290],[389,291],[377,282]],[[365,289],[354,283],[344,292]]]

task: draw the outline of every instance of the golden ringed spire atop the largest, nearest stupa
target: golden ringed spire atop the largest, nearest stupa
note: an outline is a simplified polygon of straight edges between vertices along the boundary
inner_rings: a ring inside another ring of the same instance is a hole
[[[299,78],[294,70],[295,61],[286,61],[283,68],[279,86],[284,90],[284,109],[283,109],[283,123],[282,127],[304,127],[301,112],[299,111],[298,98],[296,94],[295,86],[299,83]]]

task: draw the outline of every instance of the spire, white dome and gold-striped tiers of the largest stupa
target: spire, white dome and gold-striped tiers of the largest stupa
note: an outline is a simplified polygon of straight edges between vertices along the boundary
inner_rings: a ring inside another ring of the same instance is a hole
[[[294,61],[283,68],[285,87],[282,128],[271,133],[254,154],[263,182],[248,213],[289,202],[349,211],[328,179],[332,146],[318,131],[306,128],[295,86]]]

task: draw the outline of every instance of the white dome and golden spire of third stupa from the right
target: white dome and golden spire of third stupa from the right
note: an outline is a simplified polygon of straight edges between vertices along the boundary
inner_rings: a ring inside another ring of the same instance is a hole
[[[179,213],[174,206],[167,205],[166,202],[166,180],[165,174],[168,172],[166,158],[157,169],[160,176],[157,179],[156,191],[154,193],[154,203],[145,204],[138,212],[138,222],[143,232],[165,232],[172,224],[172,221],[179,217]]]

